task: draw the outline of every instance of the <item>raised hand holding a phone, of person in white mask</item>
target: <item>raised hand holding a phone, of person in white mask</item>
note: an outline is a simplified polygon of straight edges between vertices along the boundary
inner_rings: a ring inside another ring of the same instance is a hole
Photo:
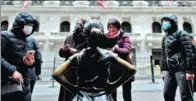
[[[24,56],[23,62],[24,62],[26,65],[28,65],[28,66],[32,66],[33,63],[35,62],[35,57],[34,57],[33,55]]]

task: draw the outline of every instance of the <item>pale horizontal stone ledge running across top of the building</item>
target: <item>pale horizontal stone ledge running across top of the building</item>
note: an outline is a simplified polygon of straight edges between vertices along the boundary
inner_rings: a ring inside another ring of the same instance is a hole
[[[163,14],[163,13],[179,13],[179,14],[196,14],[196,7],[117,7],[117,8],[101,8],[99,6],[91,7],[73,7],[73,6],[29,6],[23,9],[22,6],[2,5],[1,12],[21,12],[30,11],[34,13],[129,13],[129,14]]]

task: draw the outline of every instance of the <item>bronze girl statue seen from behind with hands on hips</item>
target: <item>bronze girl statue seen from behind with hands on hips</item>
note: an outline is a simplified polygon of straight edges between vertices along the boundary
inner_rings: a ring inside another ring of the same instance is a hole
[[[90,21],[85,24],[89,33],[89,48],[69,57],[58,66],[52,76],[67,90],[76,94],[72,101],[113,101],[111,92],[132,77],[135,67],[113,52],[106,50],[103,43],[107,38],[103,34],[103,25],[99,21]],[[114,82],[109,82],[110,66],[116,65],[124,70]],[[71,67],[77,69],[77,85],[71,84],[64,73]]]

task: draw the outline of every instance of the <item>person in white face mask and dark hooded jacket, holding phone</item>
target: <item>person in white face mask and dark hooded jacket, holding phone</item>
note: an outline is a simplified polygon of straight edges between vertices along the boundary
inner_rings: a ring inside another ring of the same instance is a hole
[[[31,101],[28,69],[34,65],[34,56],[27,55],[29,37],[38,27],[32,14],[19,13],[9,31],[1,31],[1,88],[10,82],[21,84],[23,91],[2,92],[2,101]],[[12,88],[12,90],[15,88]]]

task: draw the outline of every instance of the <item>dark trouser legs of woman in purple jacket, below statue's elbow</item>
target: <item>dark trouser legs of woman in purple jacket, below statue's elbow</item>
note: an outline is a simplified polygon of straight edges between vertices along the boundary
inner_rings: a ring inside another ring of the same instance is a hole
[[[131,94],[131,89],[132,89],[132,81],[129,80],[128,82],[124,83],[122,85],[123,87],[123,99],[124,101],[132,101],[132,94]],[[117,101],[117,91],[115,90],[112,93],[112,98],[114,101]]]

